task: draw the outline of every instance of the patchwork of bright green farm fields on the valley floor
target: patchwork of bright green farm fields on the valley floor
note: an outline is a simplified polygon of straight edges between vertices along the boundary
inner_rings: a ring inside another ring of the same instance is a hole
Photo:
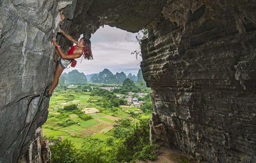
[[[45,137],[67,138],[77,148],[80,148],[85,137],[89,136],[102,140],[109,138],[111,136],[109,132],[116,124],[116,120],[132,118],[129,112],[138,111],[136,107],[127,109],[106,107],[104,106],[104,103],[106,103],[105,97],[92,96],[91,92],[83,92],[76,89],[77,87],[76,85],[72,89],[61,89],[58,87],[55,90],[49,103],[47,122],[42,125]],[[79,110],[96,108],[100,112],[90,113],[88,115],[92,116],[92,118],[83,120],[83,118],[79,117],[79,114],[64,110],[64,107],[70,104],[77,104]],[[140,113],[140,116],[149,118],[151,113]]]

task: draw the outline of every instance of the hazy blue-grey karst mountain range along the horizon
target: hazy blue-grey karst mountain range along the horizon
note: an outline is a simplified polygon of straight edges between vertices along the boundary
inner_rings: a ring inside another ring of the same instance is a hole
[[[93,83],[122,84],[126,78],[138,83],[145,82],[143,80],[141,69],[138,71],[137,76],[132,75],[131,73],[126,76],[124,72],[113,74],[109,69],[104,69],[100,73],[86,75],[84,73],[79,73],[77,70],[63,73],[60,76],[60,83],[84,83],[86,81],[92,81]]]

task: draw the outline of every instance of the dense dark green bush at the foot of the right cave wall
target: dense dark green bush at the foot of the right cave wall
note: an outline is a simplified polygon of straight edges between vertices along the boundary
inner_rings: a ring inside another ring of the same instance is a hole
[[[138,119],[137,122],[132,122],[129,119],[118,121],[114,133],[115,136],[123,139],[122,146],[119,146],[118,153],[116,153],[119,162],[156,159],[157,146],[150,145],[148,122],[149,119]]]

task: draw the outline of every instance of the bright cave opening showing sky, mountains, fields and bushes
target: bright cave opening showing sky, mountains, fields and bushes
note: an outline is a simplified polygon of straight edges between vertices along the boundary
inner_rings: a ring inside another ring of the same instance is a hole
[[[132,55],[140,51],[139,41],[144,35],[108,25],[100,27],[90,38],[93,60],[81,57],[76,67],[61,74],[42,125],[52,162],[58,162],[58,158],[131,162],[140,159],[138,153],[148,153],[148,159],[156,157],[150,153],[156,150],[149,134],[151,90],[140,70],[141,55]],[[65,155],[63,146],[68,146]],[[124,150],[119,153],[116,148]]]

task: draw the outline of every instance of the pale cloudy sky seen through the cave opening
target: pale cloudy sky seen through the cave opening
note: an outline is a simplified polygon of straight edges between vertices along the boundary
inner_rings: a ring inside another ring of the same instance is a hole
[[[141,56],[138,59],[133,54],[134,50],[140,50],[140,45],[136,41],[138,33],[131,33],[104,25],[92,34],[92,54],[93,60],[85,60],[82,62],[80,57],[77,60],[76,67],[70,67],[63,72],[68,73],[74,69],[84,74],[99,73],[104,68],[109,69],[113,74],[122,71],[128,75],[129,73],[137,75],[140,69]]]

